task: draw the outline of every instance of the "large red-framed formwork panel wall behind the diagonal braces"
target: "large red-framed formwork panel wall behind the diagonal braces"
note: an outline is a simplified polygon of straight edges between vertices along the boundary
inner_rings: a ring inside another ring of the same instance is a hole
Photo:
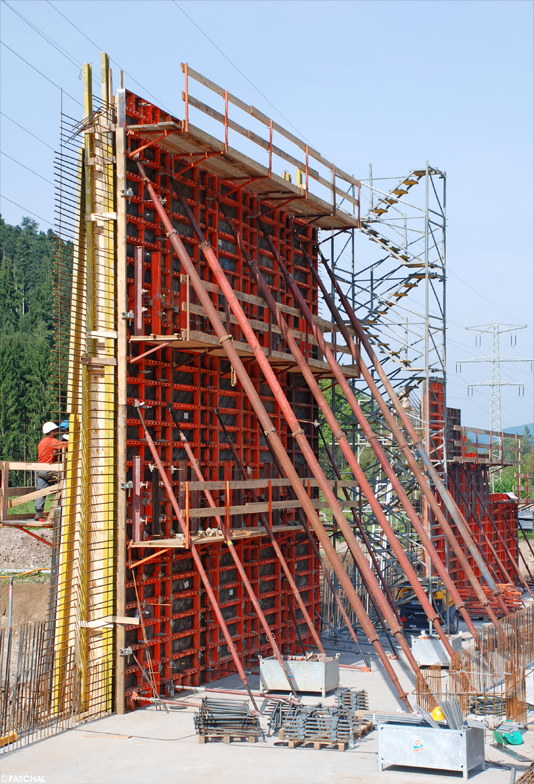
[[[130,127],[174,119],[132,93],[126,93],[125,104],[126,123]],[[318,307],[317,287],[304,261],[300,243],[313,263],[316,263],[314,242],[317,230],[278,209],[276,201],[260,201],[256,194],[240,187],[239,183],[219,180],[203,170],[201,165],[195,165],[195,159],[171,155],[157,144],[147,147],[146,142],[140,140],[135,132],[128,132],[127,140],[127,307],[133,318],[128,328],[126,478],[132,480],[134,461],[140,459],[141,479],[146,483],[142,498],[141,536],[169,539],[178,533],[179,527],[146,446],[143,428],[134,408],[136,400],[145,403],[147,426],[163,465],[172,475],[174,492],[182,509],[185,507],[188,487],[185,483],[195,477],[167,408],[169,405],[206,480],[231,481],[241,478],[215,409],[219,411],[230,438],[236,444],[250,478],[269,479],[278,474],[272,464],[264,433],[241,385],[233,376],[229,362],[220,356],[220,346],[217,351],[213,346],[203,346],[201,340],[197,341],[198,345],[193,340],[201,333],[212,335],[213,331],[197,304],[187,277],[181,273],[180,262],[160,225],[132,154],[139,151],[137,159],[143,163],[216,308],[223,312],[227,331],[236,343],[243,339],[241,331],[212,283],[208,265],[184,217],[179,198],[186,199],[206,239],[218,251],[219,261],[234,291],[246,295],[241,304],[262,345],[269,352],[284,351],[284,348],[277,331],[270,324],[268,309],[259,300],[256,301],[259,292],[225,222],[225,215],[235,221],[276,300],[290,309],[290,326],[302,333],[302,351],[306,356],[314,358],[317,349],[307,339],[304,320],[296,310],[291,312],[293,302],[254,216],[261,215],[263,225],[268,227],[315,314]],[[298,233],[298,242],[294,231]],[[139,248],[142,249],[142,257]],[[154,339],[162,336],[168,337],[173,345],[162,346],[142,357],[155,347]],[[287,432],[278,401],[265,383],[255,360],[249,355],[245,361],[254,386],[299,474],[307,476],[304,458]],[[288,362],[287,366],[291,364]],[[303,385],[302,377],[287,372],[283,363],[279,365],[279,380],[293,403],[302,429],[317,452],[317,435],[313,426],[317,418],[316,407],[311,393]],[[260,492],[263,493],[263,500],[266,500],[265,491]],[[313,495],[317,491],[311,488],[310,492]],[[285,488],[273,487],[273,500],[285,500],[288,498],[286,493]],[[212,490],[212,494],[218,506],[240,505],[249,500],[244,491],[233,490],[230,486],[223,490]],[[193,516],[194,508],[207,505],[201,490],[197,488],[191,491],[189,504],[193,534],[199,529],[215,527],[213,517]],[[133,496],[127,506],[126,516],[126,538],[131,542],[132,538],[136,538],[133,531]],[[294,521],[295,509],[273,512],[274,526]],[[234,529],[254,528],[258,525],[257,514],[232,517]],[[308,612],[313,619],[317,619],[319,574],[311,545],[300,527],[294,532],[286,530],[278,533],[277,539]],[[310,641],[311,634],[297,609],[295,615],[299,629],[296,629],[293,607],[289,605],[290,589],[269,540],[266,537],[251,537],[246,542],[236,542],[236,547],[278,645],[283,652],[294,652],[299,633],[304,643]],[[153,547],[136,547],[130,550],[129,557],[135,561],[142,560],[153,552]],[[270,655],[266,635],[226,546],[207,540],[206,544],[201,545],[200,552],[223,616],[245,665],[249,665],[258,654]],[[198,685],[234,671],[232,658],[187,550],[171,548],[134,569],[128,569],[125,598],[127,615],[136,615],[139,610],[142,612],[147,644],[144,643],[141,628],[127,629],[125,643],[144,662],[149,653],[161,693],[172,693],[172,684]],[[125,677],[126,695],[134,690],[146,689],[139,667],[132,659],[126,663]]]

